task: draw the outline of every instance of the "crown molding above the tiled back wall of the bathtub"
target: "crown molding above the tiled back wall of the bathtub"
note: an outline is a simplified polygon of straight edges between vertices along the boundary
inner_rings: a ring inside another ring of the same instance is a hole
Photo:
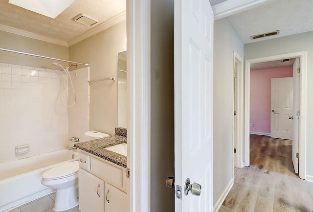
[[[17,29],[11,26],[6,26],[3,24],[0,24],[0,30],[1,31],[5,31],[5,32],[9,32],[9,33],[13,33],[16,35],[21,35],[27,38],[32,38],[32,39],[36,39],[36,40],[40,40],[40,41],[44,41],[44,42],[50,42],[50,43],[54,43],[54,44],[58,44],[58,45],[63,45],[63,46],[67,46],[68,44],[65,41],[61,41],[58,39],[54,39],[54,38],[49,38],[47,36],[43,36],[43,35],[38,35],[36,33],[32,33],[32,32],[28,32],[22,29]]]

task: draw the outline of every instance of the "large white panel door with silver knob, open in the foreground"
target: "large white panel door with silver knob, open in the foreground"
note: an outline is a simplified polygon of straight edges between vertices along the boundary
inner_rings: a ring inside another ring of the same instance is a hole
[[[175,0],[175,212],[213,211],[213,12],[208,0]],[[185,181],[201,195],[184,194]]]

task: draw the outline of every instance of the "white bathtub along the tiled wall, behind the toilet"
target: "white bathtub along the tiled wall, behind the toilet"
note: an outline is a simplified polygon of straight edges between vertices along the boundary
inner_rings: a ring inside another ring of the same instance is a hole
[[[74,160],[78,160],[77,151],[66,149],[0,164],[0,212],[53,192],[41,184],[42,174],[56,164]]]

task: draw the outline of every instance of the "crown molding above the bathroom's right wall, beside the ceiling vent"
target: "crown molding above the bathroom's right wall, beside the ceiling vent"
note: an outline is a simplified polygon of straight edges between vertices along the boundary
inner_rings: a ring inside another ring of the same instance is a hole
[[[104,21],[102,23],[100,23],[99,25],[93,27],[92,29],[89,29],[87,32],[77,36],[76,38],[70,40],[67,42],[68,46],[71,46],[77,42],[81,42],[101,31],[104,31],[108,28],[110,28],[111,26],[126,20],[126,10],[117,14],[116,16],[113,16],[111,19]]]

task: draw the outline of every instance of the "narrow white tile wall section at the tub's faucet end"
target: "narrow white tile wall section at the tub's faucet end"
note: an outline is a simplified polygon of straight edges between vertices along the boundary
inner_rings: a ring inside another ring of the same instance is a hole
[[[74,91],[76,94],[76,103],[68,108],[68,137],[79,138],[80,141],[86,141],[84,133],[89,131],[89,67],[70,71]],[[71,91],[70,82],[68,82],[69,101],[72,105],[74,95]],[[70,142],[69,146],[73,146]]]

